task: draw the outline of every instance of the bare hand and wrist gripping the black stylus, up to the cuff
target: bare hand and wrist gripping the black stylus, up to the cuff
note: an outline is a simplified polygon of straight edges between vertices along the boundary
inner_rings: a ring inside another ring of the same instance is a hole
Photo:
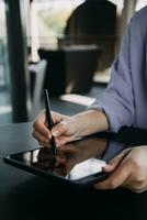
[[[109,120],[103,111],[94,109],[83,111],[72,117],[52,112],[54,128],[48,131],[45,122],[45,111],[42,111],[33,123],[33,136],[43,146],[49,144],[52,135],[57,146],[83,138],[89,134],[109,129]]]

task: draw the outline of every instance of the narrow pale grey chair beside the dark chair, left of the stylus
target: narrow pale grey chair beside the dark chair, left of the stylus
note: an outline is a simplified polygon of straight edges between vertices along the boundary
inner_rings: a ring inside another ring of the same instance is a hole
[[[36,64],[31,64],[29,66],[29,70],[31,74],[30,79],[31,79],[31,99],[32,99],[31,118],[32,117],[34,118],[42,109],[41,98],[42,98],[42,90],[44,87],[46,67],[47,67],[47,61],[45,59],[41,59],[41,62]]]

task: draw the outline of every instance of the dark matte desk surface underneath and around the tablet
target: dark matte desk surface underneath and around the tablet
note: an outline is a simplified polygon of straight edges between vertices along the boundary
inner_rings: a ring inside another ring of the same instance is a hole
[[[98,219],[147,219],[147,193],[125,189],[98,191],[50,183],[3,163],[3,154],[36,147],[31,138],[31,123],[0,127],[0,219],[49,219],[90,215]],[[125,130],[106,134],[126,142],[147,143],[146,131]],[[123,138],[124,136],[124,138]],[[67,211],[69,210],[69,212]]]

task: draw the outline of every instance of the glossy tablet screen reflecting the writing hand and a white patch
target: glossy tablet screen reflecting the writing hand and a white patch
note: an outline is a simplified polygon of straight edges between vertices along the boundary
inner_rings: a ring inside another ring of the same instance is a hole
[[[13,154],[10,158],[24,166],[76,180],[101,172],[105,162],[123,150],[123,143],[87,138],[57,148],[56,161],[50,147]]]

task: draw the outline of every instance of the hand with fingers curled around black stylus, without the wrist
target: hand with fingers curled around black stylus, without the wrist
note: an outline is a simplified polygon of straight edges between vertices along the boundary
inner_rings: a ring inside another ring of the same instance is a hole
[[[57,146],[74,141],[78,136],[77,120],[75,117],[67,117],[52,112],[54,128],[49,131],[46,127],[45,111],[42,111],[33,123],[32,135],[38,141],[39,145],[48,146],[52,136],[55,138]]]

